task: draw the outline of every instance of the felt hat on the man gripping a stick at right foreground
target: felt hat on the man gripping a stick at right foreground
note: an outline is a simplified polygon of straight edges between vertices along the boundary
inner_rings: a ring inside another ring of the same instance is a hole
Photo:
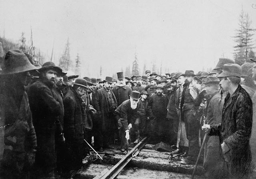
[[[222,73],[218,77],[237,76],[241,77],[242,68],[238,64],[225,64]]]

